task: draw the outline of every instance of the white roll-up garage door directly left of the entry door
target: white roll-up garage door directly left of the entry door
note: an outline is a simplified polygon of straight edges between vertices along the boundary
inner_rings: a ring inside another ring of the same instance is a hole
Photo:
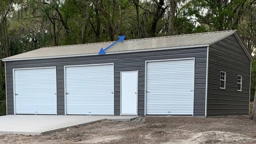
[[[114,115],[114,65],[68,66],[66,113]]]

